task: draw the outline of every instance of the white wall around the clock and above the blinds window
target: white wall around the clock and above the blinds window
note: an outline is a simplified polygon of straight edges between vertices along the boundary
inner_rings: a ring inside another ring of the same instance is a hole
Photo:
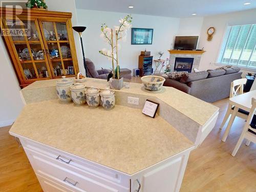
[[[227,25],[243,25],[248,23],[256,23],[256,9],[204,17],[199,48],[204,47],[206,52],[202,55],[199,69],[207,70],[218,67],[215,63],[219,55],[222,38]],[[211,41],[207,41],[206,31],[209,27],[216,28],[216,32]],[[243,72],[244,76],[249,71],[243,70]]]

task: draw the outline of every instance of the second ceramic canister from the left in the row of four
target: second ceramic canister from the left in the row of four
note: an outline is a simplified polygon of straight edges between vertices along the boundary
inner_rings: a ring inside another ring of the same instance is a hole
[[[71,97],[74,103],[84,104],[86,102],[86,86],[82,83],[75,83],[70,87]]]

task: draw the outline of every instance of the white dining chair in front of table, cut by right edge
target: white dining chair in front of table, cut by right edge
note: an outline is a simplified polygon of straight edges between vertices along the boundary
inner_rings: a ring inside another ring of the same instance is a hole
[[[239,147],[241,146],[244,139],[247,139],[247,142],[246,142],[247,146],[249,146],[250,142],[256,143],[256,125],[254,124],[255,122],[252,123],[252,118],[255,118],[254,117],[255,109],[256,109],[256,99],[252,98],[250,113],[244,125],[243,131],[239,137],[238,143],[234,147],[232,156],[235,156],[237,154]]]

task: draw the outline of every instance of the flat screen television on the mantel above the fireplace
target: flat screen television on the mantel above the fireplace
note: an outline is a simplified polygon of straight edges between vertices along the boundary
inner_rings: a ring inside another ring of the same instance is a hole
[[[196,50],[198,36],[176,36],[174,49]]]

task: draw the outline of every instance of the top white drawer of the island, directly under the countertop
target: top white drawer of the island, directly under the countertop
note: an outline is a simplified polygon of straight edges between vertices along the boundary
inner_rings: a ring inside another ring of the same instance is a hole
[[[35,143],[29,140],[22,140],[22,144],[24,147],[36,151],[40,154],[43,154],[51,159],[57,159],[63,165],[68,165],[70,169],[80,169],[82,171],[94,175],[95,177],[99,177],[104,180],[109,180],[122,186],[130,186],[129,176],[120,174],[120,172],[117,172],[111,168],[104,167],[102,165],[88,161],[86,159],[82,159],[77,156],[68,154],[66,152],[57,150],[56,148]]]

